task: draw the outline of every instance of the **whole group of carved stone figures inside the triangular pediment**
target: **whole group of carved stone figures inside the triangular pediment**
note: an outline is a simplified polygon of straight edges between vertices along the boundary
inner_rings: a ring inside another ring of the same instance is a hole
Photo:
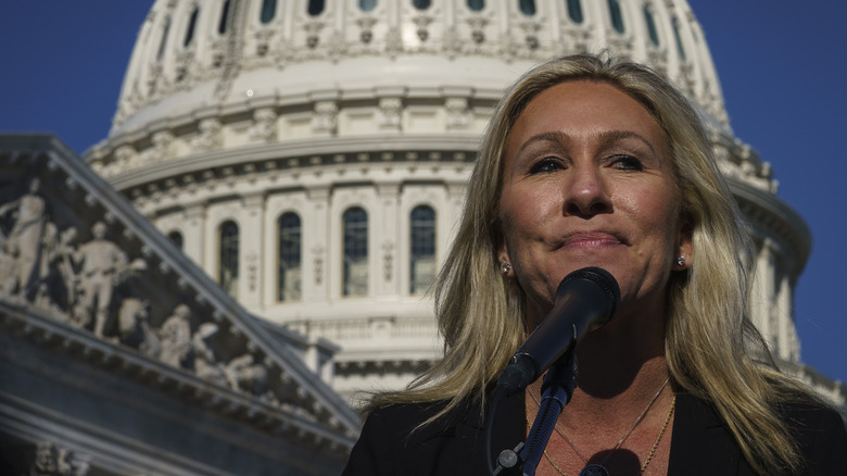
[[[134,279],[147,264],[131,260],[96,222],[79,242],[76,226],[58,225],[51,203],[33,178],[21,197],[0,204],[0,301],[46,311],[97,338],[132,348],[169,366],[233,390],[274,401],[266,366],[249,352],[222,358],[215,323],[195,322],[188,304],[156,316],[137,296]],[[159,308],[161,309],[161,308]],[[156,324],[159,323],[159,324]]]

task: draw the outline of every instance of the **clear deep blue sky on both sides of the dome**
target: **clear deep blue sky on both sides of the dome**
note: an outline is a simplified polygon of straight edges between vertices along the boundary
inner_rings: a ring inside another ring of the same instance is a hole
[[[795,297],[801,360],[847,381],[847,4],[690,0],[735,135],[770,162],[807,221]],[[11,1],[0,15],[0,130],[52,131],[81,153],[106,137],[152,1]]]

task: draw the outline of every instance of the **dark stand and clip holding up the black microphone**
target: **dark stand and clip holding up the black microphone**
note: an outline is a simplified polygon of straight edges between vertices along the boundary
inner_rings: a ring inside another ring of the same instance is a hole
[[[535,415],[527,441],[519,443],[514,450],[505,450],[501,453],[497,459],[497,468],[493,472],[494,475],[497,475],[502,469],[517,465],[521,466],[523,476],[535,474],[539,461],[541,461],[547,441],[556,427],[556,421],[573,396],[573,389],[577,387],[577,361],[572,350],[562,354],[555,364],[551,365],[541,385],[539,413]]]

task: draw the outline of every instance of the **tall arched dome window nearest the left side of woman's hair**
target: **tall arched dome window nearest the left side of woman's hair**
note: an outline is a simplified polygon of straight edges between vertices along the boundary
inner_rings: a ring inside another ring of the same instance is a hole
[[[420,205],[412,211],[412,279],[409,291],[421,295],[435,280],[435,211]]]

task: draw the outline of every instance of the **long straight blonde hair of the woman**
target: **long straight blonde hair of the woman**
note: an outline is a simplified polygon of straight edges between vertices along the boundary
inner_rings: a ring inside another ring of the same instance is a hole
[[[796,472],[802,462],[778,405],[786,399],[813,398],[775,369],[747,316],[754,247],[701,122],[684,96],[647,67],[587,54],[539,65],[501,101],[468,183],[454,246],[435,284],[444,358],[408,389],[378,396],[370,408],[446,401],[441,415],[464,400],[484,400],[485,389],[526,339],[523,293],[516,280],[501,276],[497,263],[505,145],[535,96],[574,80],[606,83],[628,93],[669,139],[694,258],[694,264],[672,274],[668,284],[665,350],[672,378],[712,403],[759,473]],[[754,355],[766,361],[756,362]]]

